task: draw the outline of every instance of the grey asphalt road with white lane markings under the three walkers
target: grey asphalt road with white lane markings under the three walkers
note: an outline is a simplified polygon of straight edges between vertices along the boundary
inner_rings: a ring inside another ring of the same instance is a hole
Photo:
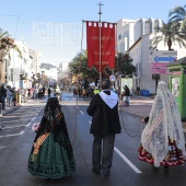
[[[43,108],[47,101],[34,100],[26,105],[1,118],[5,133],[20,133],[0,138],[0,182],[2,186],[185,186],[186,166],[171,167],[164,172],[163,167],[154,168],[138,160],[138,147],[143,125],[138,116],[130,115],[119,109],[123,132],[117,135],[113,160],[112,174],[104,177],[91,172],[91,147],[93,137],[89,133],[91,117],[86,114],[89,100],[78,100],[71,93],[62,94],[62,111],[66,116],[69,136],[73,146],[77,161],[77,173],[61,179],[47,182],[33,177],[27,172],[27,159],[35,133],[31,126],[39,121]],[[16,116],[16,117],[15,117]],[[20,121],[15,121],[15,118]],[[12,121],[12,124],[11,124]],[[8,126],[18,126],[8,130]],[[23,126],[21,126],[23,125]],[[15,130],[14,130],[15,129]]]

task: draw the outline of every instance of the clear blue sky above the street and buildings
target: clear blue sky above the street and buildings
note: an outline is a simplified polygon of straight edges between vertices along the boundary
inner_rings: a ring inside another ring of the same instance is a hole
[[[43,44],[33,39],[33,22],[82,24],[82,20],[98,21],[102,2],[102,21],[117,22],[124,19],[162,19],[167,21],[168,11],[184,7],[184,0],[0,0],[0,27],[15,39],[24,38],[30,48],[42,53],[42,62],[67,67],[81,50],[80,40],[69,45]],[[83,37],[85,48],[85,37]]]

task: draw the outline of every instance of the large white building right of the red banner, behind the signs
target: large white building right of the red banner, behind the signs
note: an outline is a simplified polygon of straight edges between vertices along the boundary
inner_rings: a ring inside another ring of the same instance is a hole
[[[137,73],[132,75],[132,92],[140,86],[141,90],[148,90],[154,94],[156,89],[155,77],[150,72],[150,54],[153,49],[167,50],[167,46],[161,42],[156,48],[150,48],[150,40],[154,36],[155,27],[161,26],[160,19],[154,20],[126,20],[117,22],[116,50],[117,53],[127,53],[132,58],[132,65],[137,68]],[[177,50],[177,59],[186,56],[185,48],[179,48],[178,44],[172,45]],[[168,83],[168,74],[160,74],[159,81]]]

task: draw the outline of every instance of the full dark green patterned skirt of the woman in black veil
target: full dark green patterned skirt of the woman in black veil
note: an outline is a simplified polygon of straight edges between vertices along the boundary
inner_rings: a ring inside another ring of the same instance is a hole
[[[60,141],[55,142],[50,133],[39,147],[37,155],[33,156],[33,149],[28,158],[28,172],[42,178],[60,178],[75,172],[72,150],[68,150],[70,141],[61,133]]]

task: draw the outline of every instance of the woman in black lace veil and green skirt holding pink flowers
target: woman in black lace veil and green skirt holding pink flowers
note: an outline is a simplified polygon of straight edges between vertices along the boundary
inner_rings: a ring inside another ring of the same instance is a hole
[[[28,158],[28,172],[42,178],[60,178],[75,172],[73,150],[61,106],[48,98]]]

